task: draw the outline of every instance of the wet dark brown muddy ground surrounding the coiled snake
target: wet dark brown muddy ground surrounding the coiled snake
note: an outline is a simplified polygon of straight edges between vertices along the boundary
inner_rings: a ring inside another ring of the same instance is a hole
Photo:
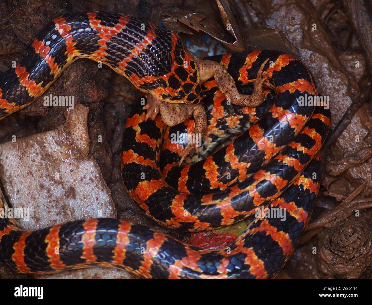
[[[332,125],[323,149],[321,191],[307,231],[278,277],[368,279],[372,277],[371,7],[361,1],[231,0],[240,45],[273,48],[299,57],[314,74],[319,94],[330,99]],[[363,4],[361,4],[363,3]],[[179,32],[199,57],[231,52],[227,44],[180,23],[167,12],[198,12],[221,20],[215,1],[1,1],[0,72],[21,60],[51,19],[77,10],[123,12]],[[211,22],[211,21],[210,21]],[[215,22],[215,21],[213,21]],[[222,21],[221,21],[222,22]],[[208,27],[208,22],[206,22]],[[219,33],[221,34],[221,33]],[[217,36],[217,35],[216,35]],[[232,39],[233,40],[233,39]],[[187,233],[160,227],[130,200],[119,169],[125,120],[139,92],[124,77],[89,60],[71,64],[47,93],[75,96],[89,107],[90,157],[109,186],[118,217],[183,241]],[[44,107],[42,98],[0,121],[0,142],[26,137],[65,123],[64,109]],[[101,136],[103,141],[98,142]],[[2,270],[0,277],[31,277]]]

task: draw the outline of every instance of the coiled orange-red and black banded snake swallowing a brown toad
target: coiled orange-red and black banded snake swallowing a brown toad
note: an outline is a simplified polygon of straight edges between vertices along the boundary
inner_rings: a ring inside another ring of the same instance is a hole
[[[286,219],[256,218],[229,247],[206,250],[120,219],[27,231],[2,217],[0,264],[39,274],[116,267],[160,279],[264,279],[280,271],[310,219],[320,187],[319,150],[330,125],[324,107],[299,103],[305,94],[317,95],[301,61],[272,50],[208,58],[225,66],[242,94],[251,91],[261,64],[270,58],[263,74],[275,89],[264,91],[260,107],[249,108],[229,103],[213,78],[200,85],[195,64],[184,65],[192,58],[179,37],[139,18],[70,13],[47,25],[32,47],[14,69],[0,74],[0,118],[41,96],[77,58],[102,61],[142,91],[153,90],[170,102],[202,99],[206,109],[203,145],[189,158],[195,163],[180,167],[185,144],[171,136],[192,133],[193,120],[168,128],[160,116],[146,121],[140,105],[128,118],[122,178],[149,217],[183,231],[230,225],[262,206],[285,209]],[[217,139],[236,133],[241,134],[215,151]]]

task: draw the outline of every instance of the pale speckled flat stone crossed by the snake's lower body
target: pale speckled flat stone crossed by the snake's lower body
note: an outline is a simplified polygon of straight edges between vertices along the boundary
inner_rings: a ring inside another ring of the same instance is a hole
[[[0,175],[15,208],[26,212],[20,224],[39,229],[95,217],[114,217],[111,191],[89,153],[87,114],[80,104],[66,113],[66,124],[0,145]],[[28,212],[28,213],[27,213]],[[29,218],[29,219],[28,219]],[[128,278],[122,270],[89,268],[38,278]]]

